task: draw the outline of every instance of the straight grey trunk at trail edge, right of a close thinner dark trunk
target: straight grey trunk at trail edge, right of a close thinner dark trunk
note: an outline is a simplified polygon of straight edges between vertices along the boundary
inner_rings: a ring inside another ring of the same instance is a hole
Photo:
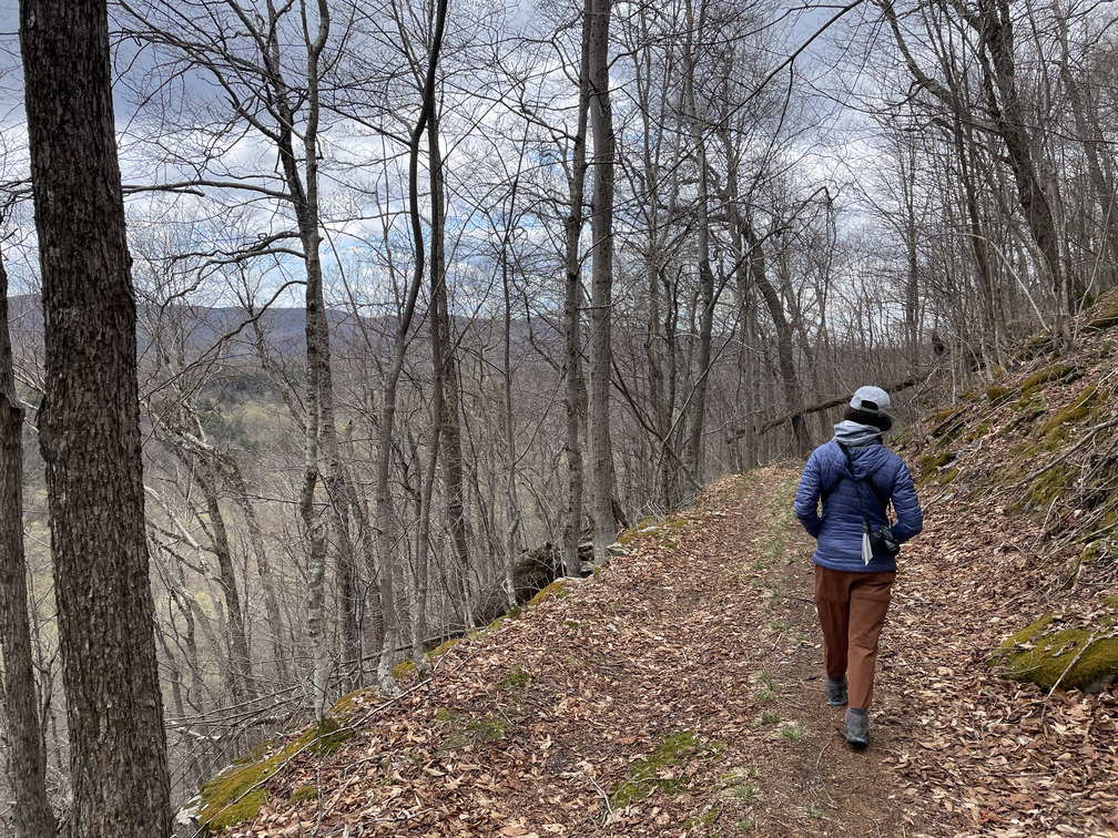
[[[616,537],[614,465],[609,437],[610,322],[614,280],[614,116],[609,104],[612,0],[593,0],[590,18],[590,125],[594,133],[594,197],[590,219],[590,475],[594,484],[594,560],[606,560]]]

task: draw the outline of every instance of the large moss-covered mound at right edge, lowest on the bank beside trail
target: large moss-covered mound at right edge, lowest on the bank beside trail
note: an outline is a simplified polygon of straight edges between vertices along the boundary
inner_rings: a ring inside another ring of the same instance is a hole
[[[1098,692],[1118,679],[1118,638],[1099,638],[1083,628],[1046,631],[1052,617],[1038,620],[1003,642],[994,663],[1015,680],[1042,689]]]

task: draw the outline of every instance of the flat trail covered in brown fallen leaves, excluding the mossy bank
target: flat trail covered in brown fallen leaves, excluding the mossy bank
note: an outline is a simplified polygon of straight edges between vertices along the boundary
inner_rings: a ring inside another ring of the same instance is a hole
[[[1049,696],[986,663],[1048,603],[1031,525],[982,501],[923,498],[870,746],[847,747],[798,476],[722,478],[600,574],[455,645],[429,683],[348,697],[353,736],[285,762],[231,834],[1118,836],[1118,689]]]

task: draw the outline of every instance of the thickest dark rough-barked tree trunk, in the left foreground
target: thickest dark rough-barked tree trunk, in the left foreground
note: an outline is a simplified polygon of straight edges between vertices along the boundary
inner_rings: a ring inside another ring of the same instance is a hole
[[[73,835],[171,831],[148,580],[136,304],[116,159],[105,0],[25,0],[42,276],[46,460]]]

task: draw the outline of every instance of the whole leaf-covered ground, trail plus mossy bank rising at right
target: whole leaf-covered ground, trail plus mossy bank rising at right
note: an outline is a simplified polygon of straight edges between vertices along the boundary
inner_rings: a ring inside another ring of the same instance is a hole
[[[1118,836],[1118,688],[1064,688],[1115,639],[1116,336],[901,440],[927,523],[866,752],[825,703],[799,469],[777,465],[638,528],[401,698],[347,696],[341,727],[260,749],[205,813],[236,836]],[[1044,650],[1051,683],[1005,677]]]

